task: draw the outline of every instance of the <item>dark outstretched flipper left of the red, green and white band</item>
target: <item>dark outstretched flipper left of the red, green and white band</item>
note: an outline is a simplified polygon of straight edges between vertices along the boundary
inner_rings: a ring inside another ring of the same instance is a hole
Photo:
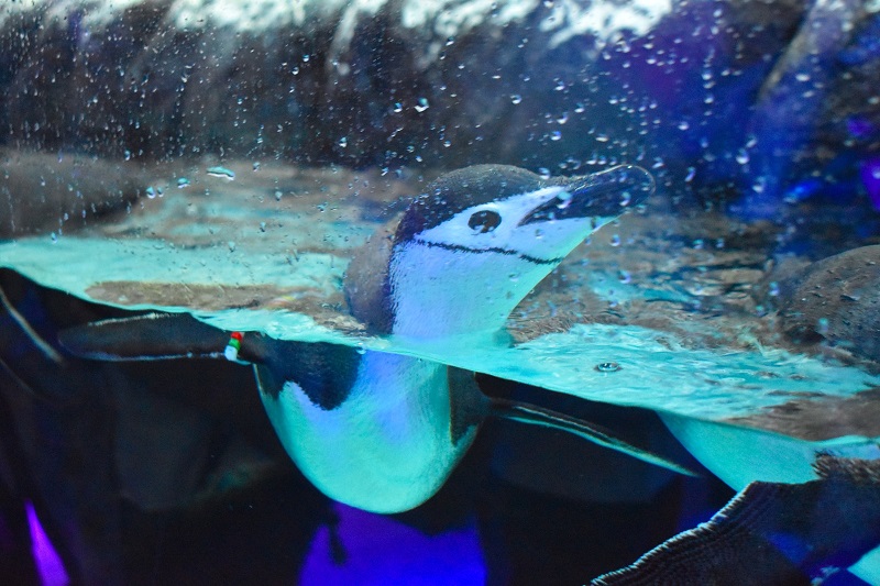
[[[101,361],[222,358],[229,332],[188,313],[145,313],[68,328],[58,341],[76,356]]]

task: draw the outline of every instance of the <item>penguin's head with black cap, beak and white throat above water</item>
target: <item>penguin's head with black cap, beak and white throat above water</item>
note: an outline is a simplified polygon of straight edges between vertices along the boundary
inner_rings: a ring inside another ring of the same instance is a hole
[[[546,179],[479,165],[439,177],[394,234],[392,332],[429,338],[501,329],[579,243],[653,189],[651,175],[637,166]]]

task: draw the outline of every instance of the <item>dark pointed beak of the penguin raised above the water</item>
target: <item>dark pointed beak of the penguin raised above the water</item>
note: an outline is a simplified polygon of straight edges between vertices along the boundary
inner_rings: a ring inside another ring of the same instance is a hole
[[[563,190],[531,210],[519,222],[526,225],[576,218],[616,218],[653,194],[650,173],[636,165],[563,179]]]

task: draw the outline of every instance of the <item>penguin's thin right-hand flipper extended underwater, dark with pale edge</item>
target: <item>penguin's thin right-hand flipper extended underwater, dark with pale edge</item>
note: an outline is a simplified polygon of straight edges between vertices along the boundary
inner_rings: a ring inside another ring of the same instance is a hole
[[[530,425],[539,425],[542,428],[557,429],[588,440],[595,444],[622,452],[635,458],[641,460],[649,464],[660,466],[685,476],[698,476],[693,471],[676,464],[663,456],[651,453],[641,447],[625,442],[619,438],[615,438],[610,430],[607,430],[595,423],[566,416],[551,409],[544,409],[536,405],[530,405],[520,401],[510,401],[506,399],[491,398],[488,402],[487,414],[507,419],[510,421],[519,421],[520,423],[528,423]]]

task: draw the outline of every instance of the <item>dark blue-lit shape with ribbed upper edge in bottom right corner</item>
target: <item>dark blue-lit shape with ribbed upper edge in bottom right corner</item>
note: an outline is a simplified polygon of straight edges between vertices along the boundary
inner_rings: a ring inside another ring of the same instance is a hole
[[[816,457],[820,479],[756,482],[708,522],[593,585],[815,584],[880,545],[880,463]]]

